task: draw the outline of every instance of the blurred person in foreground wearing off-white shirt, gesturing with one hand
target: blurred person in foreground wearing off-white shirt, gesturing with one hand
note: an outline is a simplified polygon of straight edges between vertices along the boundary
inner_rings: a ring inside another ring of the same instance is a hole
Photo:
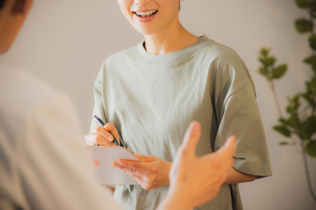
[[[0,0],[0,52],[15,39],[32,0]],[[25,71],[0,66],[0,209],[122,209],[94,183],[75,107],[64,93]],[[192,122],[158,209],[193,209],[216,197],[233,163],[235,137],[197,157]],[[207,169],[207,170],[206,170]]]

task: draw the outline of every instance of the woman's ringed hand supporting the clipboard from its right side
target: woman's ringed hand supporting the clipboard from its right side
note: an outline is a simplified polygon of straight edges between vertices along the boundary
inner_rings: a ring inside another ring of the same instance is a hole
[[[153,155],[145,156],[136,153],[135,156],[143,162],[119,159],[112,166],[133,177],[145,190],[169,185],[169,171],[172,163]]]

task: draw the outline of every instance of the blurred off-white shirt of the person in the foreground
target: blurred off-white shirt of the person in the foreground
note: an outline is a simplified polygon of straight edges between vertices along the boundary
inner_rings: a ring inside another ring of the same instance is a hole
[[[68,96],[0,66],[0,101],[0,209],[121,209],[94,183]]]

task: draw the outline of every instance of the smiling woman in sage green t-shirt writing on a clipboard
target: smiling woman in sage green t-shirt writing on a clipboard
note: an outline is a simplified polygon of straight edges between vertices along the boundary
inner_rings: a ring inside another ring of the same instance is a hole
[[[104,61],[94,85],[93,122],[86,142],[113,146],[111,132],[144,163],[116,165],[140,185],[117,186],[127,209],[154,209],[168,189],[172,160],[187,125],[201,122],[197,155],[237,136],[234,165],[218,196],[199,209],[242,209],[237,183],[271,175],[264,129],[250,74],[234,50],[181,26],[178,0],[118,0],[143,34],[135,47]],[[205,166],[207,167],[207,166]]]

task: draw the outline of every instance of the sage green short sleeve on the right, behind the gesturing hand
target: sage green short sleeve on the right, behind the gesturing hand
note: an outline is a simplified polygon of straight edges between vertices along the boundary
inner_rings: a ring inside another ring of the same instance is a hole
[[[235,135],[233,167],[258,178],[271,176],[264,128],[251,82],[229,96],[222,111],[214,149],[219,149],[229,136]]]

